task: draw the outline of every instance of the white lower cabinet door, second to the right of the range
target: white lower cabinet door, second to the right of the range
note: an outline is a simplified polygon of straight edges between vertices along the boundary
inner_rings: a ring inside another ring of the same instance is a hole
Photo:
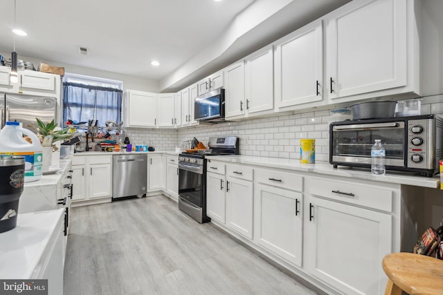
[[[226,225],[246,238],[253,237],[253,184],[226,178]]]

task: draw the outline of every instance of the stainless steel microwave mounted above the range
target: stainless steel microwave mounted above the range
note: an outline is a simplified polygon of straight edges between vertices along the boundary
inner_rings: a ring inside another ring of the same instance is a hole
[[[216,89],[195,98],[195,120],[224,121],[224,88]]]

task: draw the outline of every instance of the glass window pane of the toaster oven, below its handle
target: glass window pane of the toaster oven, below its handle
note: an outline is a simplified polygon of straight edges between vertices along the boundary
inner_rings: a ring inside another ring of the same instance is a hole
[[[386,159],[404,159],[405,134],[402,128],[370,130],[343,130],[332,133],[332,155],[370,158],[375,140],[381,140]]]

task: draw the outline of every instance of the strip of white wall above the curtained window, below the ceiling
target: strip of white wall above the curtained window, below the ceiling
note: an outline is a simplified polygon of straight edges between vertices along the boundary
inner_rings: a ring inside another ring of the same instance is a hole
[[[3,55],[3,58],[10,59],[11,53],[1,53],[0,55]],[[126,89],[135,89],[138,91],[148,91],[148,92],[159,92],[159,82],[135,77],[135,76],[129,76],[129,75],[122,75],[119,73],[114,72],[107,72],[105,70],[96,70],[93,68],[85,68],[83,66],[75,66],[73,64],[64,64],[57,61],[46,61],[43,59],[35,59],[34,57],[25,57],[20,55],[20,53],[17,53],[18,59],[22,59],[24,61],[30,61],[33,63],[34,67],[37,69],[39,66],[39,63],[42,62],[44,64],[49,64],[51,66],[61,66],[64,67],[65,73],[73,73],[73,74],[79,74],[79,75],[87,75],[92,77],[100,77],[105,79],[114,79],[123,81],[123,90]],[[116,71],[118,71],[118,68],[116,68]]]

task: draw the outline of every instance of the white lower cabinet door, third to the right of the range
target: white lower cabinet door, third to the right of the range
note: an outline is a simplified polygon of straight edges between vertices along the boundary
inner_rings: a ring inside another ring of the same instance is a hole
[[[302,194],[264,184],[254,187],[254,240],[302,266]]]

